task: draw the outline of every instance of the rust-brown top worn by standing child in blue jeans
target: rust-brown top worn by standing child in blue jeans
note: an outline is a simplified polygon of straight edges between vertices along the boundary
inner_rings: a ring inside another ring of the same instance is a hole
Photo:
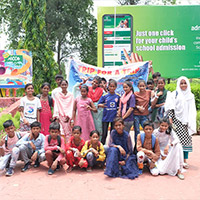
[[[151,99],[151,90],[146,90],[144,93],[140,92],[135,92],[135,101],[136,101],[136,106],[143,106],[144,107],[144,112],[140,112],[137,108],[134,110],[134,115],[148,115],[148,105],[149,101]]]

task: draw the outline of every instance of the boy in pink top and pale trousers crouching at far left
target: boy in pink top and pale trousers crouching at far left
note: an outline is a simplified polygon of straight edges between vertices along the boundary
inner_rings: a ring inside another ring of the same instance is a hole
[[[21,138],[20,133],[15,132],[15,126],[12,120],[3,123],[6,135],[0,140],[0,170],[6,169],[6,176],[12,176],[14,168],[19,157],[19,149],[15,146]]]

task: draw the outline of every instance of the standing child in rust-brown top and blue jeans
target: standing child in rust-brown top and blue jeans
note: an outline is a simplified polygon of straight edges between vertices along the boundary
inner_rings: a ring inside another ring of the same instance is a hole
[[[144,128],[143,124],[148,119],[148,106],[151,100],[151,90],[146,90],[146,82],[139,80],[138,82],[139,92],[135,92],[136,105],[134,109],[134,131],[135,131],[135,143],[137,143],[137,135],[140,133],[140,124]]]

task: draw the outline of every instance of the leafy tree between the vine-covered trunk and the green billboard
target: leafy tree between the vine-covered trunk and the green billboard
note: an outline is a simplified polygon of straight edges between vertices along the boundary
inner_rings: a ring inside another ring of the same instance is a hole
[[[57,53],[59,66],[73,53],[79,53],[82,60],[96,64],[97,23],[91,14],[92,6],[92,0],[47,0],[48,41]]]

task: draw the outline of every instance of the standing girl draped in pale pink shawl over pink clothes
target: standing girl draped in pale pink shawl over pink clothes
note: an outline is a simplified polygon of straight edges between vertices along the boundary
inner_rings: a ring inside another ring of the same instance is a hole
[[[55,105],[53,118],[59,121],[61,125],[61,135],[64,135],[66,141],[68,141],[71,136],[71,119],[74,97],[67,91],[67,80],[61,80],[60,86],[62,92],[58,92],[54,98]]]

